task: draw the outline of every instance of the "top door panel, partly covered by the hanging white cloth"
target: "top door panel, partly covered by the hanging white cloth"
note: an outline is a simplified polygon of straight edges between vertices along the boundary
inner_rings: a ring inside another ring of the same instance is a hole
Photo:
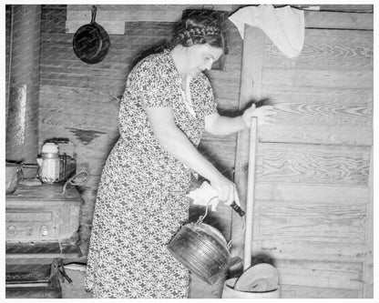
[[[272,67],[373,69],[373,31],[305,29],[300,56],[287,58],[266,37],[264,65]]]

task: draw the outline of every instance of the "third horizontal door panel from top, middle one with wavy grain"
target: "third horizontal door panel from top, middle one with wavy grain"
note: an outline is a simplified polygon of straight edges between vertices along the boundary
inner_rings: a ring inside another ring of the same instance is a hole
[[[370,147],[261,143],[257,182],[368,186]]]

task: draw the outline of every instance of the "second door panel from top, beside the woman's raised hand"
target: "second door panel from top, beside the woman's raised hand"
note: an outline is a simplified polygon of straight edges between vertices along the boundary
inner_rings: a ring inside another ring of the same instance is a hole
[[[263,86],[275,107],[275,125],[372,126],[373,90]]]

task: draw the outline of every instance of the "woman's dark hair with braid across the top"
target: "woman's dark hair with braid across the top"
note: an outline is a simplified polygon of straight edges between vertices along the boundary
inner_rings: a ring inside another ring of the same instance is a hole
[[[226,53],[224,37],[217,20],[209,15],[198,15],[189,17],[179,25],[169,43],[169,48],[172,49],[176,45],[189,47],[206,43],[213,47],[220,47]]]

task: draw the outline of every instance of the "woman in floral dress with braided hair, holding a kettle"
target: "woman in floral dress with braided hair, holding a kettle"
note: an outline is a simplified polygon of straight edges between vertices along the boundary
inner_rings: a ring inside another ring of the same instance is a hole
[[[167,250],[188,220],[190,174],[210,180],[220,201],[240,205],[235,185],[200,155],[204,129],[229,135],[271,123],[271,106],[242,116],[217,113],[202,73],[223,54],[220,27],[189,19],[170,50],[141,60],[120,103],[120,138],[103,169],[87,261],[86,288],[95,298],[187,298],[189,271]]]

